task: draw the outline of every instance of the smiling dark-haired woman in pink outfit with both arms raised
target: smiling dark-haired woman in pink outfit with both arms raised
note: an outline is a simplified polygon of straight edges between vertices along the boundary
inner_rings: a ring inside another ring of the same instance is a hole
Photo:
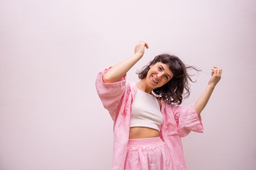
[[[193,67],[186,68],[178,57],[158,55],[137,73],[140,81],[126,81],[126,73],[144,55],[145,47],[148,44],[139,41],[134,56],[103,70],[96,79],[97,93],[114,121],[112,170],[186,170],[180,137],[204,131],[200,113],[222,69],[213,67],[200,98],[181,107],[191,81],[186,69]]]

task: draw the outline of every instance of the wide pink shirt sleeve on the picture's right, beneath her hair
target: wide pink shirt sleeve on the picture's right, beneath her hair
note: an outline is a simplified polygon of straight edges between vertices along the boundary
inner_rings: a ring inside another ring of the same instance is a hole
[[[191,131],[203,133],[204,127],[201,116],[195,111],[195,103],[181,107],[172,105],[173,116],[178,125],[180,137],[185,137]]]

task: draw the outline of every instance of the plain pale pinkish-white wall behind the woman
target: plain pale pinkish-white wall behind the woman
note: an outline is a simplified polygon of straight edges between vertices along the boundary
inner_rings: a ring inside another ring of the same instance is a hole
[[[96,75],[148,42],[136,70],[162,52],[222,79],[182,138],[188,170],[256,168],[254,0],[0,0],[0,170],[109,170],[113,122]]]

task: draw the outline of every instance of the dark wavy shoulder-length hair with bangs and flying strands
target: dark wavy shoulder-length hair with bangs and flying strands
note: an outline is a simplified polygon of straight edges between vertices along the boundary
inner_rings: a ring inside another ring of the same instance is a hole
[[[168,65],[168,68],[173,72],[173,78],[168,81],[162,87],[157,87],[153,90],[159,98],[164,98],[168,104],[177,104],[180,105],[182,103],[184,93],[184,98],[188,98],[190,94],[190,84],[189,81],[192,81],[190,75],[187,70],[194,69],[196,71],[202,71],[198,68],[195,68],[191,65],[185,65],[178,57],[170,54],[160,54],[157,55],[148,65],[145,65],[140,71],[137,71],[139,79],[146,78],[148,74],[148,70],[150,69],[150,65],[154,65],[161,61],[162,63]],[[192,81],[195,83],[195,81]]]

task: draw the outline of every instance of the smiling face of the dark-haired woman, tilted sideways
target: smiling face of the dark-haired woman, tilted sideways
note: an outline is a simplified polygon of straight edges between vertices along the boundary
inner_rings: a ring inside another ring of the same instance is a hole
[[[173,72],[168,68],[168,65],[158,62],[154,65],[150,65],[148,74],[146,76],[146,82],[149,87],[153,89],[165,85],[173,78]]]

